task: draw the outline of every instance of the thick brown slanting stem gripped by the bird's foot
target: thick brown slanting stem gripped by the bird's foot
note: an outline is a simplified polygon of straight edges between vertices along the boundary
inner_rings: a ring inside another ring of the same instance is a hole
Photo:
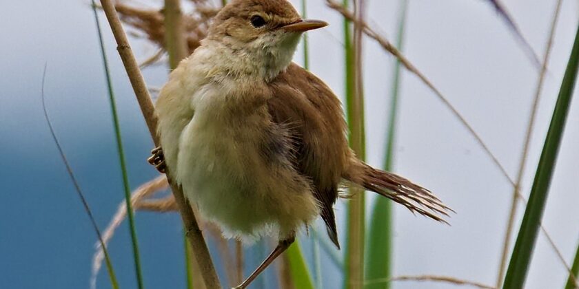
[[[155,145],[159,145],[159,136],[156,134],[157,119],[154,114],[153,103],[149,96],[147,85],[145,85],[145,80],[139,70],[139,65],[136,63],[129,41],[123,30],[123,26],[121,25],[121,21],[116,14],[112,1],[101,0],[101,5],[103,6],[110,28],[114,34],[117,50],[119,51],[123,65],[125,65],[130,83],[133,87],[137,101],[139,102],[139,106],[141,107],[141,112],[145,117],[145,122],[147,122],[147,127],[151,133],[153,142]],[[199,269],[202,272],[205,285],[210,289],[219,288],[219,278],[215,272],[211,255],[207,249],[203,233],[199,228],[199,224],[197,224],[192,208],[187,200],[185,200],[181,187],[172,182],[170,171],[167,171],[167,180],[169,180],[169,183],[171,184],[175,201],[179,206],[181,218],[183,219],[183,224],[187,231],[187,239],[189,239],[192,250],[196,253],[195,259],[197,264],[199,264]]]

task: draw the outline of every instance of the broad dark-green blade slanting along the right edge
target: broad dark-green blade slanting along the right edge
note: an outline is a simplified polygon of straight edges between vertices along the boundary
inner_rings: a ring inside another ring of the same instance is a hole
[[[515,248],[511,255],[509,268],[502,288],[522,288],[527,277],[527,270],[531,261],[537,233],[540,226],[542,212],[547,202],[549,185],[555,168],[555,162],[565,128],[565,120],[571,103],[571,96],[575,88],[577,68],[579,65],[579,27],[576,32],[575,42],[571,50],[571,56],[565,69],[565,76],[559,90],[559,96],[547,132],[547,138],[541,152],[539,164],[535,174],[531,195],[522,224],[517,236]]]

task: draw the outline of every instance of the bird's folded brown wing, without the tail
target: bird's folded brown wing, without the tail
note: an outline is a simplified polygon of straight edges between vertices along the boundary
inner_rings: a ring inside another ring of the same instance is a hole
[[[314,184],[327,232],[338,248],[334,203],[349,157],[340,100],[295,63],[270,83],[272,120],[290,130],[294,167]]]

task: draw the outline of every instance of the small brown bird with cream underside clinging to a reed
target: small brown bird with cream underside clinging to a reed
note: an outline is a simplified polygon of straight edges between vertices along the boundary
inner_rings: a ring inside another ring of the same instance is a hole
[[[340,248],[332,207],[341,185],[442,222],[450,210],[427,189],[369,167],[348,148],[340,101],[292,63],[301,34],[326,25],[301,19],[287,0],[232,0],[156,102],[163,150],[155,149],[150,162],[160,171],[166,164],[226,237],[279,239],[238,288],[318,216]]]

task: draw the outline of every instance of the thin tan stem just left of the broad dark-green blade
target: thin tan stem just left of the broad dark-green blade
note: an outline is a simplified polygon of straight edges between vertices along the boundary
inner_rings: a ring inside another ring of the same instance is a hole
[[[547,72],[547,65],[549,64],[549,56],[551,55],[551,47],[553,46],[553,37],[555,35],[555,29],[557,26],[557,20],[559,18],[559,12],[561,8],[561,0],[557,1],[555,12],[553,14],[553,20],[551,21],[551,30],[549,31],[549,38],[547,39],[547,45],[545,46],[545,55],[542,59],[542,65],[539,73],[539,79],[537,82],[537,87],[535,89],[535,96],[533,99],[533,104],[531,105],[531,114],[529,115],[529,124],[527,125],[527,132],[525,133],[525,142],[522,145],[521,157],[518,167],[518,173],[516,182],[513,188],[513,197],[511,201],[511,209],[509,213],[509,219],[507,221],[507,229],[505,232],[505,239],[502,242],[502,253],[500,257],[500,266],[498,270],[497,280],[496,280],[496,287],[500,288],[502,286],[502,279],[505,277],[505,269],[507,267],[507,258],[509,257],[509,247],[511,244],[511,237],[513,235],[514,223],[515,223],[515,216],[517,211],[517,203],[518,199],[520,198],[520,184],[522,182],[522,176],[525,173],[525,165],[527,164],[527,156],[529,154],[529,144],[531,143],[531,136],[533,135],[533,128],[535,124],[537,109],[539,105],[540,95],[542,92],[542,85],[543,81],[545,80],[545,74]],[[541,226],[542,228],[542,226]],[[547,235],[547,231],[545,228],[542,228],[542,231]],[[547,235],[549,240],[551,237]],[[551,245],[554,246],[553,242],[550,241]],[[560,253],[556,250],[558,255]],[[565,260],[565,259],[563,259]],[[563,264],[566,264],[565,261]]]

